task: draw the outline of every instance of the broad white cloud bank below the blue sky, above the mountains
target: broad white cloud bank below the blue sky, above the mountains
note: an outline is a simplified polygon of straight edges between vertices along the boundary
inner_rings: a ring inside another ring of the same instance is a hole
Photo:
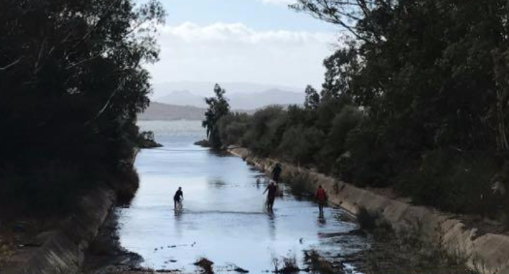
[[[154,82],[244,81],[319,85],[322,60],[334,34],[257,31],[241,23],[161,28],[161,61],[150,67]]]

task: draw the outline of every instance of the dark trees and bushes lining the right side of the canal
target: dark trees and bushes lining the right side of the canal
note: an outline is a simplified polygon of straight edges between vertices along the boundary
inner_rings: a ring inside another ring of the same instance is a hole
[[[416,203],[495,215],[509,197],[509,6],[299,0],[350,36],[304,107],[219,121],[223,144],[317,167]],[[496,190],[492,186],[497,186]]]

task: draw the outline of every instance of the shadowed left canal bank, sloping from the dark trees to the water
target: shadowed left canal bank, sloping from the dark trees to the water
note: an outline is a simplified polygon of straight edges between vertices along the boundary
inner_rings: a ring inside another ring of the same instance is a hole
[[[134,149],[131,159],[124,163],[131,169],[84,192],[67,214],[39,217],[29,222],[13,220],[11,227],[6,227],[11,234],[12,252],[0,265],[0,273],[82,273],[81,268],[98,234],[114,217],[114,208],[128,203],[138,189],[138,175],[132,169],[138,151]]]

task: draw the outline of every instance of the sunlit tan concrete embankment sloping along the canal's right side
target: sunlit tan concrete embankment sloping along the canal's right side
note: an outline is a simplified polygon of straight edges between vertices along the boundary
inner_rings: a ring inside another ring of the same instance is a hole
[[[230,149],[230,153],[265,172],[275,165],[275,160],[256,157],[247,149]],[[422,240],[443,247],[451,255],[465,257],[472,270],[482,274],[509,274],[507,234],[480,233],[480,229],[467,226],[451,214],[394,200],[293,165],[282,163],[282,167],[282,179],[288,181],[298,174],[305,174],[310,187],[321,184],[329,193],[330,203],[352,214],[364,208],[388,222],[397,232],[418,232]]]

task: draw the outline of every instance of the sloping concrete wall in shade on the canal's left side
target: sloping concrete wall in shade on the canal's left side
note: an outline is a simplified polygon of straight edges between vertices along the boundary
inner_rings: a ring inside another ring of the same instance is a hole
[[[44,245],[13,274],[79,273],[84,252],[114,206],[115,197],[110,189],[97,189],[81,198],[79,210],[65,219],[60,229],[45,235]]]

